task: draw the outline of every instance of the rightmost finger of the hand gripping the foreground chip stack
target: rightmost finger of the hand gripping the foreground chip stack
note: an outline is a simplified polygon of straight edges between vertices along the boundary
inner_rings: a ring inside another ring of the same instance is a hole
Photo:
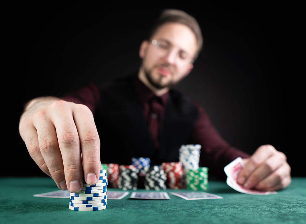
[[[84,178],[87,184],[93,185],[99,180],[100,174],[100,139],[91,111],[87,106],[77,106],[73,118],[80,138]]]

